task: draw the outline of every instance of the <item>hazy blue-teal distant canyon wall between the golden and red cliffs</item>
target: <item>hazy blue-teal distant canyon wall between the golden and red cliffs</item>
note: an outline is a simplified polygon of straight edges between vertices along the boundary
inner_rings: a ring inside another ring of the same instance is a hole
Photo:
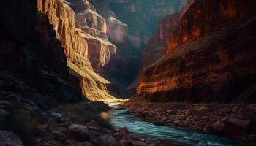
[[[159,20],[178,12],[184,0],[92,0],[91,3],[107,21],[108,38],[118,47],[102,73],[124,89],[138,75],[141,52],[156,33]]]

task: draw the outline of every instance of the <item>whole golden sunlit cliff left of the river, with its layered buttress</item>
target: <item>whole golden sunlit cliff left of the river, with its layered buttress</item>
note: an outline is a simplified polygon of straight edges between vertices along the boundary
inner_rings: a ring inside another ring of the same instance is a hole
[[[37,10],[48,15],[83,95],[91,100],[115,99],[109,91],[117,93],[117,88],[94,72],[116,53],[116,46],[108,42],[105,20],[94,6],[86,0],[38,0]]]

